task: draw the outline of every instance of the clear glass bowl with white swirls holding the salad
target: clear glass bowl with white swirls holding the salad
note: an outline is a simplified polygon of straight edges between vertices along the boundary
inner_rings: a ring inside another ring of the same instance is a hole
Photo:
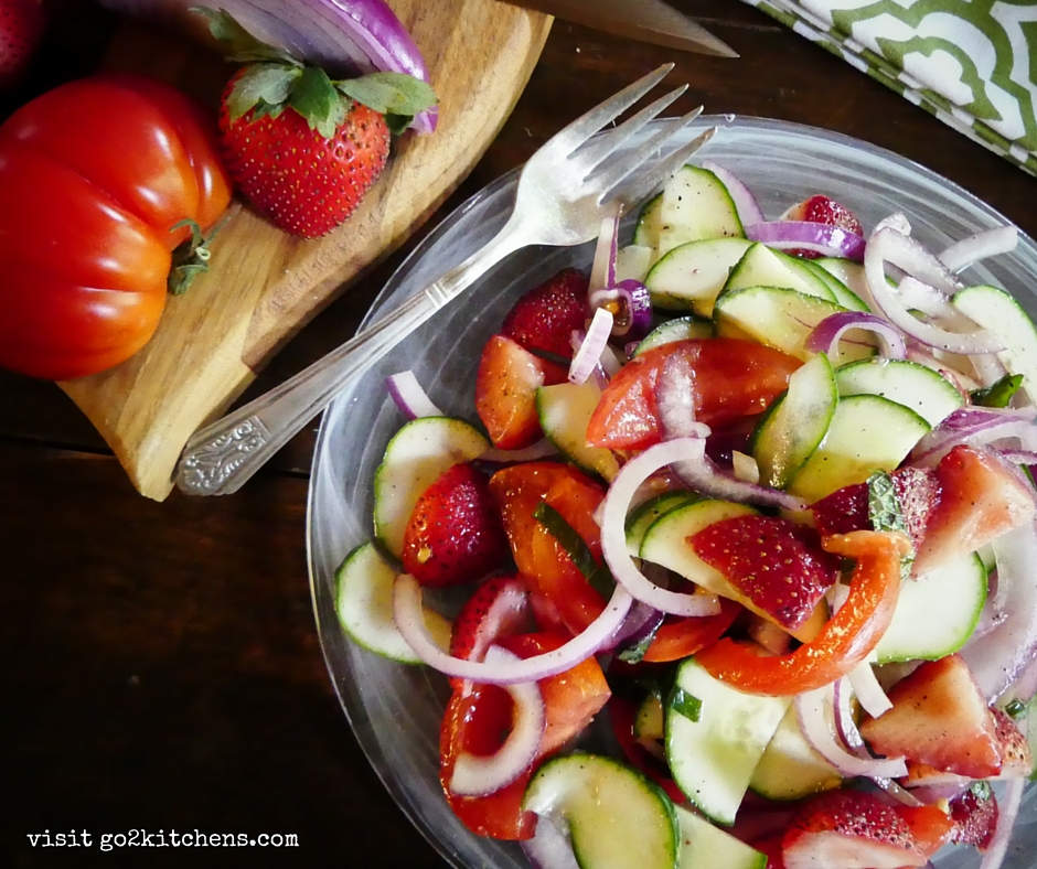
[[[917,238],[943,246],[1006,218],[936,173],[846,136],[784,121],[704,117],[697,130],[720,131],[696,159],[735,172],[756,194],[767,217],[812,193],[853,210],[866,228],[895,212],[909,218]],[[648,135],[648,133],[645,133]],[[637,144],[637,142],[634,142]],[[489,240],[511,207],[517,171],[470,199],[399,267],[375,300],[365,323],[383,315]],[[629,227],[628,227],[629,228]],[[404,814],[458,869],[526,869],[521,849],[470,834],[442,797],[438,779],[440,717],[446,678],[426,667],[378,657],[352,644],[335,616],[334,572],[345,555],[372,534],[372,480],[389,437],[403,418],[383,380],[411,369],[448,415],[475,420],[475,368],[485,340],[514,300],[568,265],[588,268],[594,245],[527,248],[456,300],[382,360],[327,409],[320,426],[309,492],[310,583],[320,640],[335,690],[356,739]],[[973,282],[1017,293],[1037,313],[1037,247],[1020,234],[1017,249],[988,267],[973,267]],[[1030,787],[1005,869],[1028,869],[1037,849],[1037,788]],[[940,869],[979,866],[972,848],[936,861]],[[723,869],[718,867],[717,869]]]

